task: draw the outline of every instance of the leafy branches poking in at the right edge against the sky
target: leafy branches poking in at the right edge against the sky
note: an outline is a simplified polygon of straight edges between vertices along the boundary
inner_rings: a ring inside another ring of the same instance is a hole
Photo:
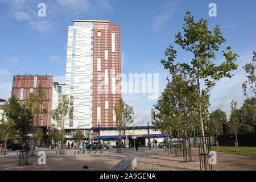
[[[243,89],[243,95],[245,95],[247,98],[248,95],[246,93],[247,88],[250,89],[251,93],[254,94],[254,97],[256,97],[256,75],[255,75],[255,68],[256,65],[254,62],[256,61],[256,51],[253,51],[253,59],[250,63],[247,63],[245,66],[243,66],[243,69],[245,69],[245,72],[247,73],[247,80],[242,84]]]

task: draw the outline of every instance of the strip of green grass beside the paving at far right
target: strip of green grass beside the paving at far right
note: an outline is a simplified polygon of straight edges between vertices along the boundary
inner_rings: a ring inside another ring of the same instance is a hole
[[[229,154],[244,155],[256,158],[256,147],[239,147],[239,152],[236,152],[235,147],[220,146],[220,150],[217,150],[216,146],[211,146],[211,150],[218,152],[226,152]]]

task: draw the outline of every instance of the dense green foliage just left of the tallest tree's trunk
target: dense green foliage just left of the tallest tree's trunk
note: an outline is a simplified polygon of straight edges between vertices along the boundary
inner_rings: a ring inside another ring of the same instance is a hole
[[[151,110],[152,124],[163,134],[187,132],[195,127],[195,108],[192,104],[191,86],[185,79],[185,72],[180,67],[175,67],[172,80],[161,93],[154,109]]]

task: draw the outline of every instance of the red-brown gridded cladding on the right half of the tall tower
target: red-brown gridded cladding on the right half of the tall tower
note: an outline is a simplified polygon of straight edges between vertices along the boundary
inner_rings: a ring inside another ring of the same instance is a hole
[[[116,94],[112,93],[112,77],[115,82],[121,81],[121,51],[119,24],[94,23],[93,28],[93,127],[97,127],[97,106],[101,106],[101,127],[114,127],[113,109],[121,98],[121,84],[116,84]],[[101,31],[101,36],[98,36]],[[112,52],[112,32],[115,32],[115,51]],[[105,60],[105,49],[108,49],[108,60]],[[101,69],[97,71],[97,57],[101,57]],[[108,85],[104,83],[105,68],[108,68]],[[104,92],[98,92],[101,88]],[[105,109],[105,100],[109,101],[109,109]],[[97,134],[97,133],[96,133]],[[95,135],[96,135],[95,134]]]

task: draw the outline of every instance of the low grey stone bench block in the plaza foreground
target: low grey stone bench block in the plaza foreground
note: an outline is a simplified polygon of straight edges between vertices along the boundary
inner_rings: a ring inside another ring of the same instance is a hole
[[[133,171],[137,167],[137,156],[129,156],[115,166],[109,169],[109,171]]]

